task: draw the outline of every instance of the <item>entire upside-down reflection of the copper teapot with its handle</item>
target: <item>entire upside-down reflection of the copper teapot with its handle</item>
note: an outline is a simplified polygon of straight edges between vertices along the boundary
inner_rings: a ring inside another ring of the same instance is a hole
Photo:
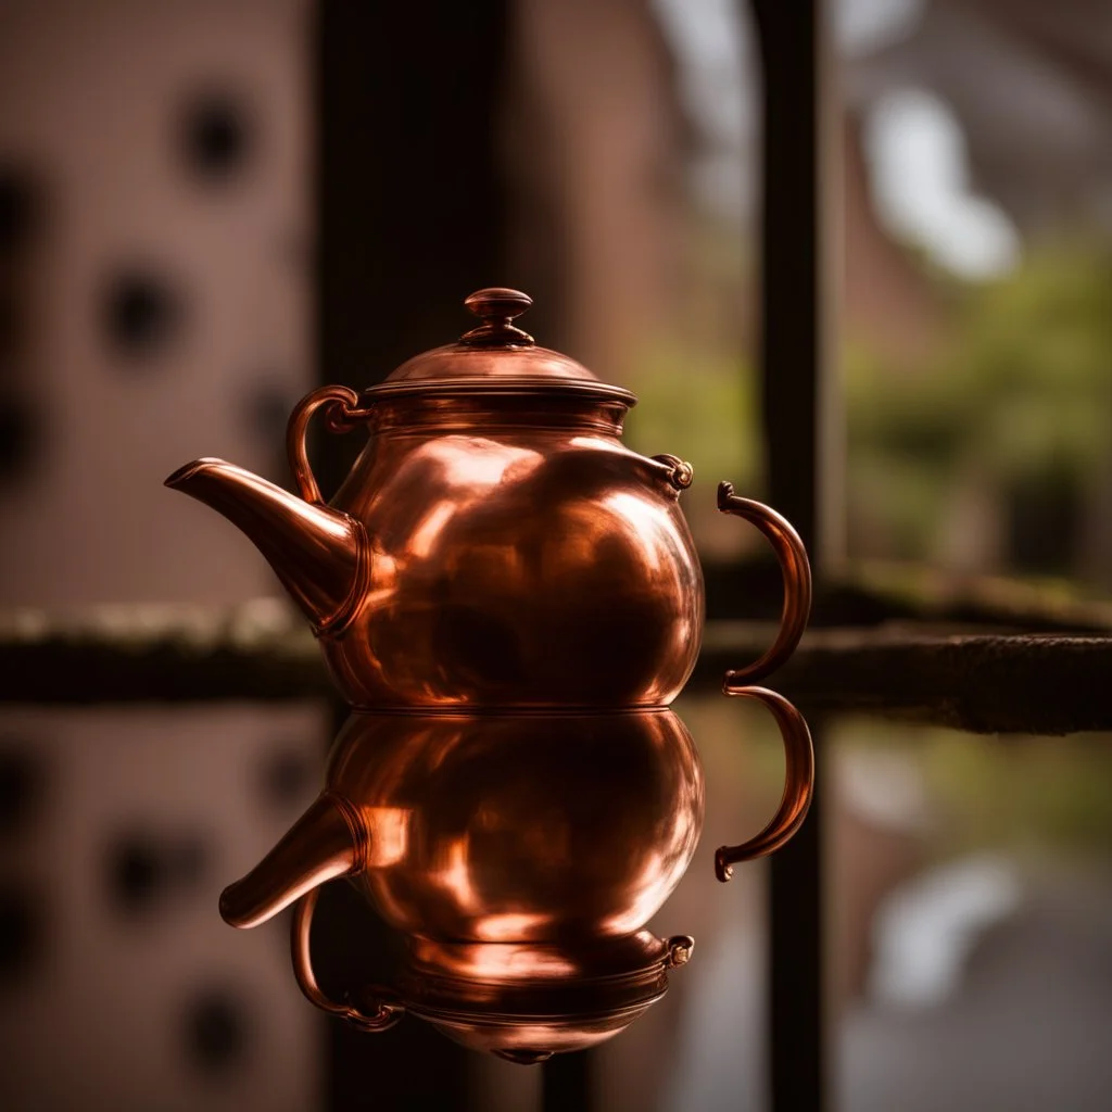
[[[788,752],[781,810],[743,857],[790,837],[806,810],[810,736],[763,688]],[[668,709],[609,714],[353,714],[326,786],[230,885],[220,912],[256,926],[299,897],[294,967],[315,1004],[365,1030],[409,1011],[513,1061],[582,1050],[667,987],[693,940],[644,929],[679,883],[703,825],[703,771]],[[317,888],[347,876],[408,939],[397,990],[353,1002],[317,985]]]

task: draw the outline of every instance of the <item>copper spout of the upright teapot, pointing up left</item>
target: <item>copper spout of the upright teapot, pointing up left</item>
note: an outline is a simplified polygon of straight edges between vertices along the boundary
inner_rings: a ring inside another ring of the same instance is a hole
[[[195,459],[166,485],[238,526],[274,568],[318,634],[347,623],[368,568],[363,526],[222,459]]]

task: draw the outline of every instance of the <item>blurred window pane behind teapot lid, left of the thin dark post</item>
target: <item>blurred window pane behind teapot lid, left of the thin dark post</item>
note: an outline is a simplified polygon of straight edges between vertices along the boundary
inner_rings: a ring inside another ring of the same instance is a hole
[[[694,465],[683,505],[711,557],[759,544],[715,508],[721,480],[754,493],[761,471],[743,16],[729,0],[517,12],[513,150],[530,199],[518,265],[560,286],[544,330],[538,300],[537,339],[638,396],[632,447]]]

